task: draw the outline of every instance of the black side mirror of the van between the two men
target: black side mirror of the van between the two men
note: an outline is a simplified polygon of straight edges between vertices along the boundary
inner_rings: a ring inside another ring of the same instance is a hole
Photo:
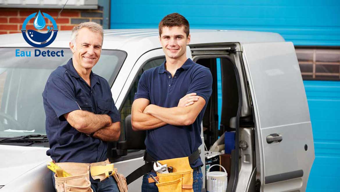
[[[146,131],[134,131],[131,124],[131,114],[125,118],[125,140],[117,143],[117,150],[144,150]]]

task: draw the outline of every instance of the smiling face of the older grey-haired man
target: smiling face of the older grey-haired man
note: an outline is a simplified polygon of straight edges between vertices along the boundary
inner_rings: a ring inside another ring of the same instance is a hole
[[[103,38],[100,34],[84,27],[78,31],[75,44],[70,43],[73,52],[73,64],[83,69],[92,69],[99,60]]]

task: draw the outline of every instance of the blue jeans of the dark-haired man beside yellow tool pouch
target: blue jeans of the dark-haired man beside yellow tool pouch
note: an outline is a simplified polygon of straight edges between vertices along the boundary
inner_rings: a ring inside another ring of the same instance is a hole
[[[142,182],[142,192],[158,192],[158,188],[156,186],[156,183],[149,183],[149,175],[153,175],[154,177],[157,176],[155,172],[148,172],[143,176],[143,182]],[[201,192],[202,186],[203,186],[203,174],[201,167],[193,168],[193,184],[192,189],[194,192]]]

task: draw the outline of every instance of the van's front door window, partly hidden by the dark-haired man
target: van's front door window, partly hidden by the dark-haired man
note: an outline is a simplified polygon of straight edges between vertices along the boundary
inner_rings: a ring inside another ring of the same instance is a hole
[[[122,141],[125,140],[125,131],[124,131],[125,130],[125,128],[124,128],[125,123],[124,123],[124,121],[125,121],[126,116],[131,114],[131,106],[132,106],[132,103],[133,103],[133,99],[135,97],[135,93],[137,92],[138,81],[140,79],[140,76],[142,75],[142,73],[145,70],[151,69],[153,67],[157,67],[157,66],[161,65],[164,61],[165,61],[165,57],[153,58],[149,61],[146,61],[143,64],[143,67],[137,73],[137,77],[136,77],[135,81],[132,83],[132,86],[130,88],[129,93],[126,94],[124,105],[122,106],[121,111],[120,111],[121,120],[122,120],[122,123],[120,124],[121,125],[120,139]]]

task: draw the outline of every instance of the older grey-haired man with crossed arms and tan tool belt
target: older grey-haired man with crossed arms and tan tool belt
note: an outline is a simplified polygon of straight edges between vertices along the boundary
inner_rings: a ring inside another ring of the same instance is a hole
[[[84,191],[118,192],[112,176],[106,178],[105,172],[95,170],[109,164],[106,142],[117,141],[120,135],[120,115],[111,88],[91,70],[100,58],[102,44],[101,25],[86,22],[75,26],[70,42],[73,56],[51,73],[43,92],[50,143],[46,153],[64,171],[80,175],[57,177],[53,173],[57,192],[71,191],[68,185]]]

